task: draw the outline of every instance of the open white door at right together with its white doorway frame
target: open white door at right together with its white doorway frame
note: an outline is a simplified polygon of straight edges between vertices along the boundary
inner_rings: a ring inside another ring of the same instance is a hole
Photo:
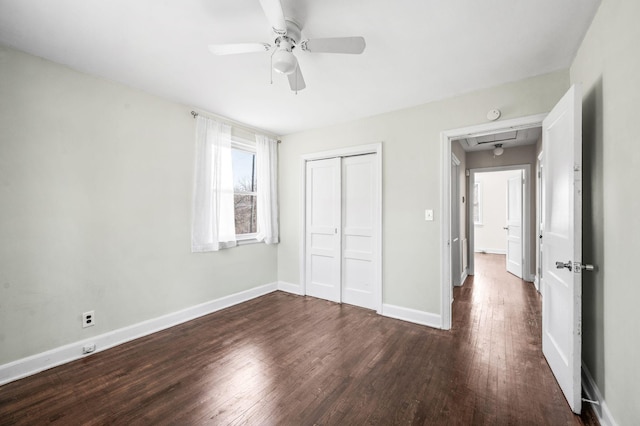
[[[533,250],[538,251],[538,258],[542,254],[543,259],[542,353],[571,409],[578,414],[581,410],[581,272],[594,269],[593,265],[582,263],[581,123],[581,88],[580,85],[573,85],[547,115],[490,123],[441,134],[442,205],[445,218],[442,221],[442,324],[444,329],[450,329],[452,298],[449,297],[447,287],[451,267],[449,206],[452,192],[449,175],[453,143],[459,139],[477,138],[478,135],[495,137],[498,132],[506,133],[513,129],[541,128],[540,144],[536,146],[537,153],[534,151],[535,158],[529,162],[529,166],[537,164],[537,161],[542,159],[539,154],[544,149],[544,164],[538,168],[538,171],[544,171],[539,182],[543,187],[541,198],[544,210],[543,218],[536,226],[543,229],[539,238],[544,241],[544,249],[540,250],[538,245]],[[500,156],[504,154],[504,149],[496,144],[493,152],[494,155]],[[531,181],[530,177],[525,180]],[[531,194],[531,191],[527,191],[527,194]]]

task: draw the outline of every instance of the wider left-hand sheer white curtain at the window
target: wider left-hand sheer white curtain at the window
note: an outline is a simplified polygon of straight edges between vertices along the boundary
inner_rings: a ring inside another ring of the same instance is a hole
[[[231,127],[196,117],[191,251],[236,245],[231,170]]]

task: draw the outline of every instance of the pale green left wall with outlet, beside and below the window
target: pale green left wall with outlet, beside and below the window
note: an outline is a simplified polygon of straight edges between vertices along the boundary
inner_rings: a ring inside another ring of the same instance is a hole
[[[0,364],[276,281],[275,247],[190,252],[189,108],[5,47],[0,76]]]

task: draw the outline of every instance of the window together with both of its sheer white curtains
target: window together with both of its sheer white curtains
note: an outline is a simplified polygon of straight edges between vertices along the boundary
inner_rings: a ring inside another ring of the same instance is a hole
[[[196,116],[193,253],[235,247],[238,240],[280,241],[277,141],[252,136],[232,136],[230,125]]]

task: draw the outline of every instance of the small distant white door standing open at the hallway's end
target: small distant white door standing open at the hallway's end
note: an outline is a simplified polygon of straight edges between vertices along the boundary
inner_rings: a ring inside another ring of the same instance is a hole
[[[507,271],[522,278],[522,172],[507,179]]]

